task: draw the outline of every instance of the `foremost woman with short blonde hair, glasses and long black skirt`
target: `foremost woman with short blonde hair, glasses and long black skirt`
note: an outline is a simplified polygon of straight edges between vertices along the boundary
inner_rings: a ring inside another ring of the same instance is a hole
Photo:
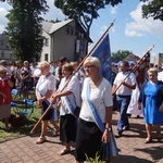
[[[110,141],[113,110],[111,84],[99,75],[99,60],[93,57],[87,58],[84,62],[84,68],[88,77],[84,80],[82,91],[83,104],[79,114],[75,148],[76,163],[84,163],[84,161],[86,161],[86,154],[88,158],[95,159],[102,141],[105,143]],[[101,131],[98,126],[90,103],[95,106],[104,131]]]

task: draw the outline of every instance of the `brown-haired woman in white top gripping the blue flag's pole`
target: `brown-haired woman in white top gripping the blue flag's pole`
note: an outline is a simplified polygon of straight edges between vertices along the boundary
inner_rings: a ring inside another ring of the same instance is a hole
[[[80,106],[79,98],[79,80],[73,74],[73,65],[65,63],[62,66],[63,78],[59,85],[57,93],[51,98],[51,102],[60,103],[60,140],[64,142],[65,147],[59,154],[63,155],[71,151],[71,141],[76,139],[76,117],[74,109]],[[67,84],[68,82],[68,84]]]

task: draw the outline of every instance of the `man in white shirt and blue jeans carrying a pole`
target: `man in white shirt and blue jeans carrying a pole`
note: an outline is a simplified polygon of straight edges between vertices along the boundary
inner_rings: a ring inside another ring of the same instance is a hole
[[[117,73],[112,92],[116,96],[117,110],[120,111],[120,120],[117,123],[117,133],[115,137],[121,137],[124,130],[129,129],[127,116],[127,108],[130,102],[131,91],[136,88],[136,76],[128,71],[129,64],[127,61],[122,61],[120,64],[120,73]]]

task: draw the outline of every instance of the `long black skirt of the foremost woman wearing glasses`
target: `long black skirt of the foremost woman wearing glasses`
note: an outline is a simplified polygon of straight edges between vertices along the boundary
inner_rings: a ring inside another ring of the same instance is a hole
[[[79,118],[76,136],[75,159],[85,161],[88,158],[96,158],[96,153],[100,150],[102,131],[92,122],[86,122]]]

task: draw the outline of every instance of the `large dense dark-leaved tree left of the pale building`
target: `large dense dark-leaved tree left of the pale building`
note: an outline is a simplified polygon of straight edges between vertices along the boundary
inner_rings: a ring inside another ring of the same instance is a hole
[[[36,60],[40,55],[43,45],[41,36],[41,21],[39,16],[48,10],[46,0],[10,0],[12,10],[5,35],[12,49],[13,57],[17,60]]]

